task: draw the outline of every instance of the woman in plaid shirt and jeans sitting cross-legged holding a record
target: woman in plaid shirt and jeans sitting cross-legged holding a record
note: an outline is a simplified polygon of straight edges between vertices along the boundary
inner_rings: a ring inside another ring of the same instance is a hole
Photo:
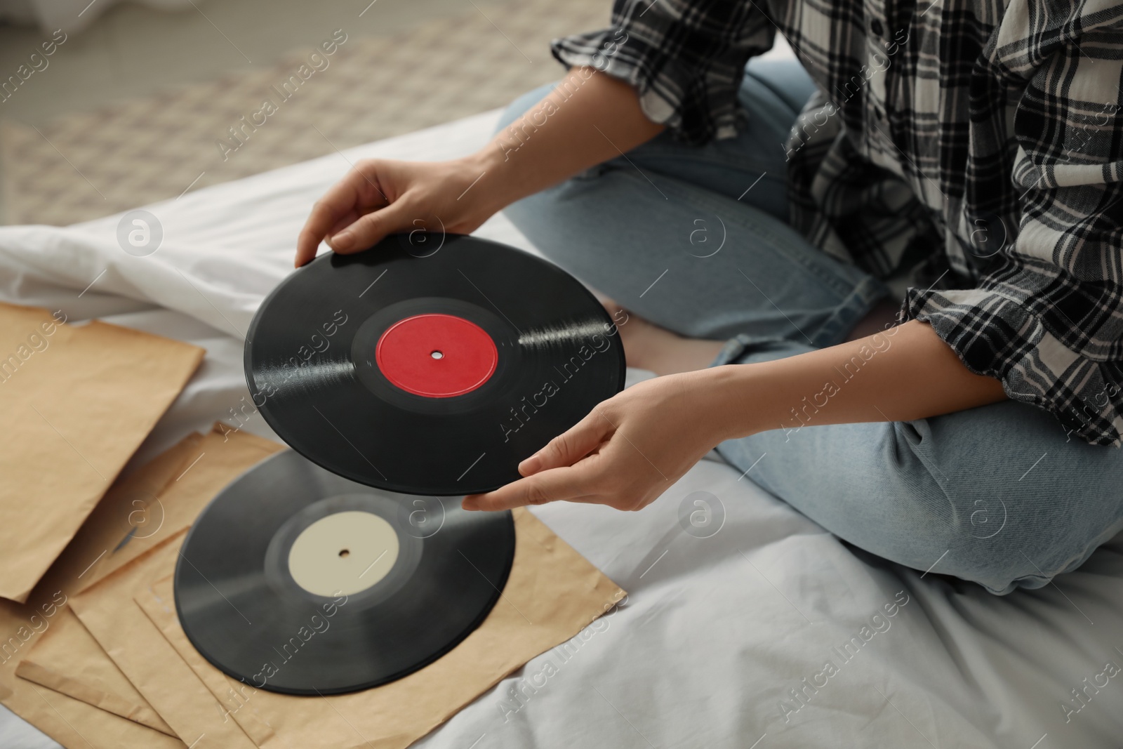
[[[1107,2],[620,0],[481,152],[358,164],[296,264],[505,209],[622,305],[660,376],[465,508],[638,510],[716,447],[869,551],[1040,587],[1123,529],[1121,26]],[[755,60],[777,30],[802,66]]]

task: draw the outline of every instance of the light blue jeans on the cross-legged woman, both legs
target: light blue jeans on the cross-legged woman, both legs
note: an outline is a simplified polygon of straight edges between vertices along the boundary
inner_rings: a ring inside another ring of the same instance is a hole
[[[692,147],[664,134],[505,212],[547,257],[634,313],[728,339],[714,365],[841,342],[889,292],[786,222],[782,144],[813,85],[794,61],[754,61],[738,137]],[[501,127],[549,89],[513,102]],[[797,423],[718,451],[839,538],[925,573],[997,594],[1041,587],[1123,530],[1119,450],[1070,439],[1031,405]]]

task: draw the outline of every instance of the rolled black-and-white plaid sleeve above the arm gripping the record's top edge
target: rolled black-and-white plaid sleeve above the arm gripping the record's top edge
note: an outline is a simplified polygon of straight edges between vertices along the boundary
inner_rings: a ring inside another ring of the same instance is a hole
[[[555,39],[554,56],[633,85],[643,113],[693,144],[732,137],[745,65],[775,27],[745,0],[615,0],[612,28]]]

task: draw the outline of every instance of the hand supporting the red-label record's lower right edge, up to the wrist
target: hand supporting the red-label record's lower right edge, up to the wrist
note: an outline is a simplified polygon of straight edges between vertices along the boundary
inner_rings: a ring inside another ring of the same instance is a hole
[[[618,393],[520,463],[523,478],[464,497],[464,509],[568,500],[641,510],[725,438],[736,409],[714,374],[666,375]]]

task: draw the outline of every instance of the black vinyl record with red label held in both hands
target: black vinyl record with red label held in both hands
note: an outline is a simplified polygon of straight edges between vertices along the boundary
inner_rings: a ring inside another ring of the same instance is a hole
[[[623,386],[612,319],[570,275],[475,237],[396,235],[321,255],[254,317],[246,381],[265,421],[332,473],[464,495]]]

